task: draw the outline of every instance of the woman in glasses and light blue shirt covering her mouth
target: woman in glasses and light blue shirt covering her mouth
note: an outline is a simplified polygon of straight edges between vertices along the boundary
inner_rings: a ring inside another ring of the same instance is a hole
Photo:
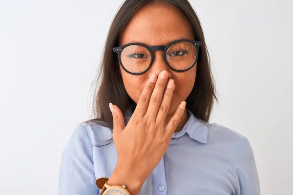
[[[63,151],[59,195],[105,195],[104,184],[131,195],[259,194],[248,139],[209,124],[217,98],[188,0],[126,0],[99,75],[95,119]]]

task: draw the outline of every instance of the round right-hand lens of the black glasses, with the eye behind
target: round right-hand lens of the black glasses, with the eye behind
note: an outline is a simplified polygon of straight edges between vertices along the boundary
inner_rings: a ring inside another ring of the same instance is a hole
[[[167,49],[166,58],[173,68],[177,70],[187,69],[195,61],[195,46],[187,41],[176,42]]]

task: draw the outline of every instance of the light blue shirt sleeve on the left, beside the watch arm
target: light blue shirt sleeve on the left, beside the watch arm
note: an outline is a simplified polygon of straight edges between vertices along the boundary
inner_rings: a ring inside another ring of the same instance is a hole
[[[79,124],[62,153],[58,195],[99,195],[95,181],[93,146]]]

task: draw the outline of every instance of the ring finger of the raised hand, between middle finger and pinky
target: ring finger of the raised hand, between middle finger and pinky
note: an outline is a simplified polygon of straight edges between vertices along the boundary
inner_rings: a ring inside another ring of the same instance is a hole
[[[173,92],[174,92],[174,80],[170,79],[167,83],[167,87],[166,90],[164,92],[163,95],[163,100],[161,102],[161,105],[159,107],[159,111],[158,111],[158,115],[156,118],[156,121],[165,121],[165,118],[167,116],[167,113],[169,111],[170,108],[170,103],[171,103],[171,99],[173,96]]]

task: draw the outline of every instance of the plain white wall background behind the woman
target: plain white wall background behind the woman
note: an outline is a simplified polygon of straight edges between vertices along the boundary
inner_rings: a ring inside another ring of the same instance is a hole
[[[0,0],[0,194],[54,195],[121,0]],[[210,122],[249,138],[262,195],[292,195],[293,3],[191,0],[220,104]]]

